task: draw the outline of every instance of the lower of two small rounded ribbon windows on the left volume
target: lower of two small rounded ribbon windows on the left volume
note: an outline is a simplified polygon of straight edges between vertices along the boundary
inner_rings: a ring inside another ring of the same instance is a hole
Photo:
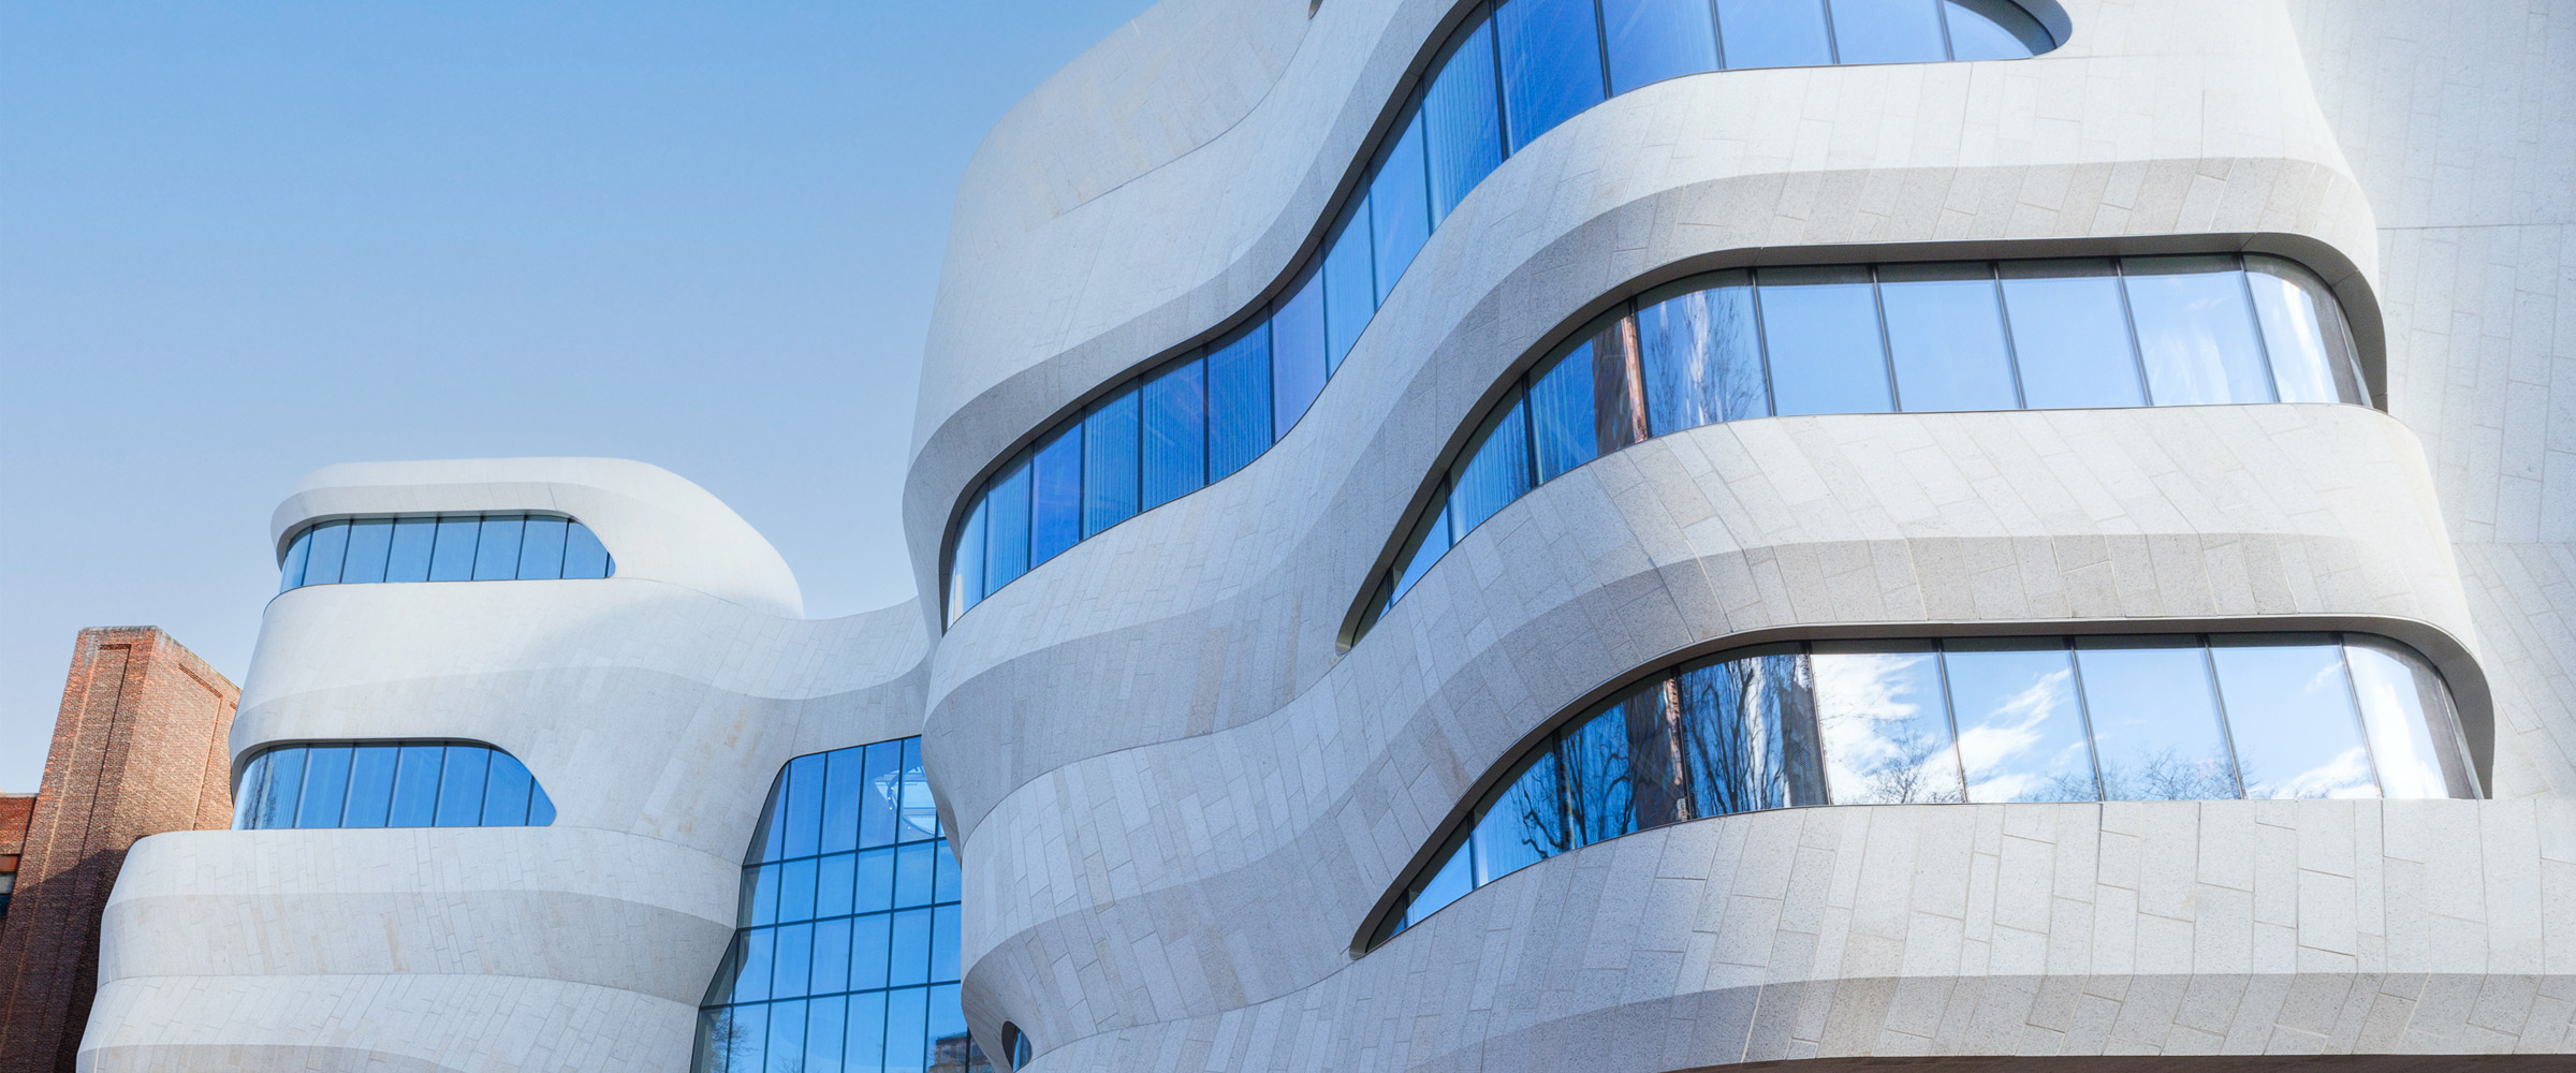
[[[549,826],[528,764],[469,741],[325,741],[250,757],[237,831],[286,826]]]

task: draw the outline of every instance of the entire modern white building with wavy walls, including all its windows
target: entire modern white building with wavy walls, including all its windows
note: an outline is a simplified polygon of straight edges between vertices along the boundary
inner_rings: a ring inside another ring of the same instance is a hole
[[[2558,1068],[2571,72],[1164,0],[966,172],[922,600],[644,463],[309,476],[82,1068]]]

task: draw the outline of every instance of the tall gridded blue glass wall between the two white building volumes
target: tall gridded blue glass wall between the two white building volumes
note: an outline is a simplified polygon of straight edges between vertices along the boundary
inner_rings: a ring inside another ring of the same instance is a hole
[[[992,1073],[958,1006],[958,865],[922,738],[796,757],[742,857],[698,1073]]]

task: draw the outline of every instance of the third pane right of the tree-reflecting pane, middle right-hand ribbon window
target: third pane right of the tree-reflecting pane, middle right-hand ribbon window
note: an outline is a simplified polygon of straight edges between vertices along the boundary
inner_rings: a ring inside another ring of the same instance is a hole
[[[2146,407],[2107,260],[2007,260],[2002,275],[2025,407]]]

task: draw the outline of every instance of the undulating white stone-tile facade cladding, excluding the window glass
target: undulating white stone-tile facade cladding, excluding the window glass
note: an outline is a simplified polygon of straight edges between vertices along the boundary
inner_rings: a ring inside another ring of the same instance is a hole
[[[616,576],[291,589],[234,764],[479,741],[559,818],[142,841],[85,1063],[683,1070],[781,764],[909,733],[963,857],[966,1016],[1025,1032],[1033,1070],[2576,1050],[2576,39],[2396,0],[2032,10],[2061,31],[2032,59],[1728,69],[1577,113],[1430,234],[1275,448],[945,633],[938,600],[804,620],[778,553],[652,466],[314,473],[281,548],[541,509]],[[994,129],[902,504],[922,592],[1007,455],[1280,291],[1468,15],[1167,0]],[[1471,419],[1638,288],[2159,252],[2321,275],[2378,407],[1705,425],[1520,497],[1350,643]],[[1368,949],[1497,764],[1649,666],[2228,630],[2421,651],[2491,800],[1718,816]]]

